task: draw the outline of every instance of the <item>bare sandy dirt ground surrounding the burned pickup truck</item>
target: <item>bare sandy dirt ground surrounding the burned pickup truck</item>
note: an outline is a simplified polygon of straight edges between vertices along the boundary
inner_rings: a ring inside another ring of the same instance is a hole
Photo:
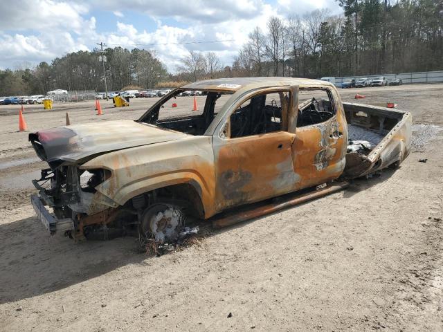
[[[132,237],[48,235],[28,196],[39,161],[0,107],[0,331],[443,331],[443,84],[340,89],[410,111],[399,169],[161,257]],[[29,106],[30,131],[135,119],[156,99]],[[180,103],[180,99],[178,98]],[[426,163],[419,159],[427,159]]]

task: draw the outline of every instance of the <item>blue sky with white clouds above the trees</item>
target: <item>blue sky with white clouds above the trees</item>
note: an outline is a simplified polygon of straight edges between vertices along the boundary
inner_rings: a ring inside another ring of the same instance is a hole
[[[334,0],[2,0],[0,68],[51,62],[98,42],[155,50],[172,72],[191,49],[214,51],[230,65],[248,33],[270,16],[321,8],[341,13]],[[180,44],[214,40],[224,42]]]

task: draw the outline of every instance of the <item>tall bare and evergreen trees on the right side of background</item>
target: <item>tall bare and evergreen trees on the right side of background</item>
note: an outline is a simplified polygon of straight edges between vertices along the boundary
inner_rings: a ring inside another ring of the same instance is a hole
[[[336,1],[344,15],[314,10],[271,17],[265,30],[253,29],[231,75],[341,77],[443,69],[443,1]]]

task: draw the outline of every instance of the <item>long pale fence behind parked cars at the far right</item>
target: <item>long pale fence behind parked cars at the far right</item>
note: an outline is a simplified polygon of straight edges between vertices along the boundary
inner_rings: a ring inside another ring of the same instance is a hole
[[[348,77],[335,77],[335,83],[337,86],[346,80],[359,79],[368,77],[374,79],[375,77],[384,76],[388,80],[388,84],[392,80],[399,78],[403,81],[403,84],[415,84],[415,83],[443,83],[443,71],[422,71],[419,73],[402,73],[402,74],[380,74],[380,75],[367,75],[367,76],[348,76]]]

